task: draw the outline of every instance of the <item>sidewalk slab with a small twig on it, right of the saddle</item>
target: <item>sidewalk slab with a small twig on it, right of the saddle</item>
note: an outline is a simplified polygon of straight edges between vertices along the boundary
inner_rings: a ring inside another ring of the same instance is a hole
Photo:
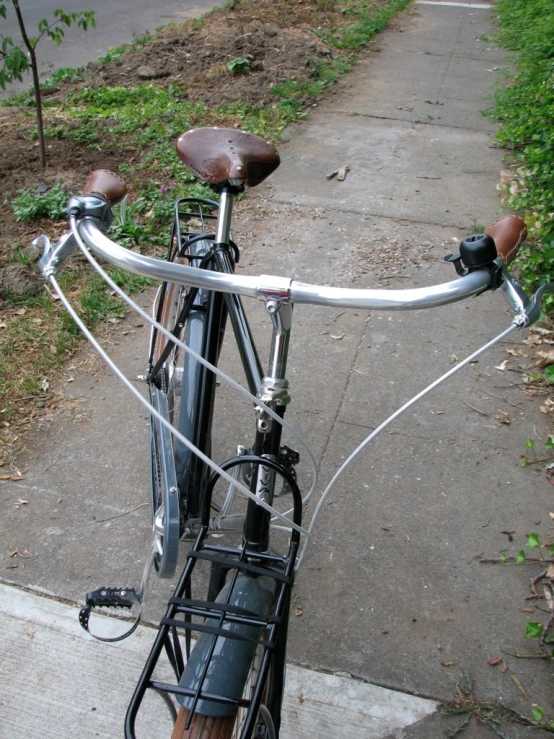
[[[278,202],[466,228],[496,213],[501,154],[479,131],[334,116],[290,136],[273,178]],[[325,179],[344,164],[343,183]]]

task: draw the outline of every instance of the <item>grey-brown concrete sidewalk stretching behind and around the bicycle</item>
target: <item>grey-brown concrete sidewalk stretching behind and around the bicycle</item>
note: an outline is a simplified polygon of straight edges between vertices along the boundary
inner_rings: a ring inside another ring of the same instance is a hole
[[[486,225],[500,205],[502,152],[480,114],[505,63],[480,40],[493,33],[486,3],[425,2],[382,34],[310,121],[287,133],[280,169],[238,207],[241,271],[359,287],[451,279],[442,257],[453,239]],[[344,182],[326,179],[345,164]],[[263,307],[251,309],[253,330],[265,337]],[[296,310],[287,417],[322,479],[509,321],[495,294],[414,314]],[[141,324],[127,319],[111,347],[131,377],[146,356]],[[477,561],[509,548],[506,532],[514,551],[531,531],[550,534],[550,486],[519,465],[526,439],[548,435],[538,404],[519,387],[529,360],[506,353],[521,338],[410,410],[341,480],[295,589],[302,615],[292,619],[293,662],[435,701],[450,699],[467,670],[476,699],[525,715],[537,703],[551,715],[549,665],[508,656],[533,651],[524,629],[535,617],[521,610],[530,607],[529,571]],[[235,366],[231,352],[223,361]],[[144,413],[109,375],[68,372],[73,412],[37,434],[21,462],[25,479],[2,487],[0,565],[14,583],[78,601],[97,586],[138,581],[148,509],[137,506],[148,500],[148,465]],[[216,424],[218,448],[242,443],[243,411],[225,393],[218,408],[227,410]],[[16,548],[33,556],[24,570],[4,569]],[[155,618],[169,584],[153,590]],[[491,666],[496,657],[504,663]],[[132,689],[134,667],[127,677]],[[435,713],[389,736],[440,737],[451,721]],[[517,725],[502,730],[533,736]],[[472,723],[466,736],[489,733]]]

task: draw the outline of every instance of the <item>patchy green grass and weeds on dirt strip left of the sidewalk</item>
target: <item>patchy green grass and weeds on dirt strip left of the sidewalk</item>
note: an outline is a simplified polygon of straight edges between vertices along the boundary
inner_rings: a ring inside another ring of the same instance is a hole
[[[232,10],[239,2],[234,0],[228,7]],[[408,3],[409,0],[313,0],[313,29],[336,49],[336,53],[325,60],[314,58],[308,79],[288,79],[276,85],[272,92],[277,102],[263,106],[236,102],[210,108],[203,102],[191,101],[183,84],[162,87],[144,82],[130,87],[83,87],[82,69],[59,70],[45,83],[46,92],[59,93],[60,89],[67,89],[64,84],[68,81],[80,84],[74,89],[69,87],[63,99],[59,96],[46,99],[46,136],[71,139],[99,150],[108,145],[111,148],[121,145],[138,152],[120,167],[121,175],[136,196],[135,202],[115,212],[111,235],[127,246],[161,256],[160,244],[165,244],[167,239],[174,200],[194,195],[213,196],[211,190],[196,181],[179,162],[174,150],[175,138],[194,126],[219,125],[240,127],[278,140],[288,125],[307,116],[314,100],[352,69],[357,52]],[[281,7],[281,20],[285,24],[285,16],[291,11],[287,10],[286,3]],[[343,21],[340,28],[321,31],[318,12],[337,10]],[[196,28],[203,28],[208,20],[209,15],[206,20],[197,19]],[[122,61],[126,54],[143,48],[152,38],[145,34],[128,46],[110,49],[99,64]],[[234,61],[233,69],[225,70],[227,74],[248,73],[241,57]],[[33,99],[26,91],[0,104],[18,105],[24,110],[27,107],[31,113]],[[43,195],[32,189],[22,190],[11,206],[22,221],[38,217],[56,219],[63,216],[66,200],[67,193],[58,185]],[[24,261],[26,252],[16,247],[13,259]],[[112,276],[130,291],[145,286],[140,278],[121,271],[112,271]],[[83,266],[64,267],[60,282],[91,328],[122,317],[121,302]],[[49,296],[12,296],[10,303],[2,317],[4,327],[0,331],[0,419],[9,424],[25,416],[29,398],[44,395],[50,378],[79,345],[77,329]]]

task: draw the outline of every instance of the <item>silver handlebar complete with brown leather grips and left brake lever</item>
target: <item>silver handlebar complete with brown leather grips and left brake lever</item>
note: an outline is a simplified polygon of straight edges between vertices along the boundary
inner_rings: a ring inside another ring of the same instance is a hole
[[[112,264],[162,281],[236,293],[266,301],[289,300],[293,303],[361,310],[416,310],[454,303],[477,295],[489,287],[496,287],[491,267],[500,271],[502,264],[509,264],[515,258],[527,233],[525,223],[517,216],[498,219],[485,232],[496,244],[496,252],[494,246],[492,250],[493,259],[496,253],[498,258],[494,262],[489,259],[487,264],[473,263],[469,270],[459,265],[457,270],[461,276],[447,283],[403,290],[341,288],[313,285],[273,275],[224,274],[136,254],[119,246],[104,233],[111,221],[110,206],[122,200],[127,192],[125,183],[107,170],[98,170],[90,175],[85,191],[83,197],[73,197],[69,201],[71,232],[63,236],[55,246],[51,246],[46,237],[39,237],[36,242],[45,247],[40,267],[47,277],[56,273],[58,264],[82,240],[97,256]],[[505,271],[503,277],[510,280]],[[513,287],[513,282],[511,286]],[[524,302],[526,296],[518,294],[518,299]]]

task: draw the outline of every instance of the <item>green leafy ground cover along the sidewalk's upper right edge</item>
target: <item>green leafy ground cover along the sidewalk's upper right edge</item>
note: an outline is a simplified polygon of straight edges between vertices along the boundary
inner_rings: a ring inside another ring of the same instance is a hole
[[[524,213],[530,240],[518,258],[525,288],[554,280],[554,14],[551,0],[498,0],[501,46],[513,52],[515,74],[491,112],[497,141],[511,152],[514,176],[506,204]],[[554,308],[550,297],[548,308]]]

